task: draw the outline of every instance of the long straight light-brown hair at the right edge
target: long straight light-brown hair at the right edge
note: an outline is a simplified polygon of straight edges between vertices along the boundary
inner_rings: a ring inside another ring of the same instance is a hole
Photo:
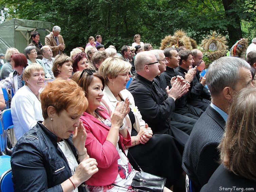
[[[256,88],[235,96],[228,113],[220,158],[228,171],[256,181]]]

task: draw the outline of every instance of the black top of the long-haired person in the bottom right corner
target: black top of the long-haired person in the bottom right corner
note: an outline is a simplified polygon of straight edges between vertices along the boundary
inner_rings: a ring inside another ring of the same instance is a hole
[[[209,179],[208,183],[204,185],[200,192],[216,192],[224,188],[254,188],[256,190],[256,182],[228,171],[223,164],[221,164],[214,174]],[[224,190],[223,190],[224,191]],[[230,190],[231,191],[231,190]],[[237,191],[237,190],[232,190]],[[241,190],[239,190],[241,191]]]

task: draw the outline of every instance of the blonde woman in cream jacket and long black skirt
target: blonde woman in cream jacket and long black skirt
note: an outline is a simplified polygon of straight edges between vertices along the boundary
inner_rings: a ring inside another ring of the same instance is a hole
[[[138,170],[138,166],[131,158],[132,155],[143,171],[166,177],[165,186],[170,188],[183,172],[182,146],[170,135],[153,135],[152,130],[145,124],[135,106],[132,94],[126,90],[130,68],[131,65],[128,62],[118,57],[109,57],[100,65],[99,73],[104,76],[106,82],[102,105],[111,115],[117,101],[129,98],[130,112],[124,119],[132,141],[132,145],[127,146],[129,161],[133,168]]]

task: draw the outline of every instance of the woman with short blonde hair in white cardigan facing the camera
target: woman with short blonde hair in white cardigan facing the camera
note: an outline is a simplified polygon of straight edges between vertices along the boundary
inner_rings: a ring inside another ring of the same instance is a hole
[[[23,73],[25,85],[12,98],[11,113],[17,140],[32,129],[37,121],[43,121],[39,90],[44,86],[41,65],[31,64]]]

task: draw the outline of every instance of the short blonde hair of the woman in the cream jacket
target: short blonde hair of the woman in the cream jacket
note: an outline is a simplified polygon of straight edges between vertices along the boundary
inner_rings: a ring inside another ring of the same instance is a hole
[[[118,74],[131,70],[131,64],[120,59],[120,57],[109,57],[99,66],[98,72],[104,77],[108,83],[108,77],[116,78]]]

